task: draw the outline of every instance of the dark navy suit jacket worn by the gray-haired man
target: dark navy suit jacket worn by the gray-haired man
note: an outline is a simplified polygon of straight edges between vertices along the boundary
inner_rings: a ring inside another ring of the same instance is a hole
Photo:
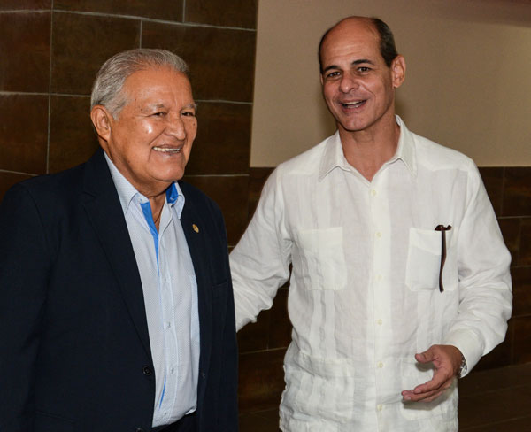
[[[224,222],[210,198],[180,186],[199,304],[196,430],[234,432]],[[154,399],[140,275],[98,150],[86,164],[15,185],[0,205],[0,431],[148,432]]]

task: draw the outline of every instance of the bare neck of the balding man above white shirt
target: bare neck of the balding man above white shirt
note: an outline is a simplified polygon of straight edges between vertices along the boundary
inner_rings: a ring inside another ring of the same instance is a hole
[[[351,132],[340,127],[339,136],[347,162],[372,181],[381,166],[395,156],[400,127],[393,118],[388,125],[379,124],[362,131]]]

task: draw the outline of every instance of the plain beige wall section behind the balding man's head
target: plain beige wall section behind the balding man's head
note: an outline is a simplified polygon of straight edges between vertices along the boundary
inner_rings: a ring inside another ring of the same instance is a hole
[[[260,0],[250,166],[276,166],[334,130],[317,46],[342,17],[378,16],[407,62],[396,111],[479,166],[531,166],[531,1]]]

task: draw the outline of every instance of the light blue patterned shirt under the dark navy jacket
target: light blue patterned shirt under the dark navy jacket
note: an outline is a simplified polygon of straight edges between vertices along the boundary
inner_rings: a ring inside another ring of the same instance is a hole
[[[155,228],[150,202],[107,157],[142,280],[156,393],[153,427],[196,410],[199,369],[197,282],[181,227],[184,196],[178,183],[166,191]],[[127,352],[124,352],[127,356]]]

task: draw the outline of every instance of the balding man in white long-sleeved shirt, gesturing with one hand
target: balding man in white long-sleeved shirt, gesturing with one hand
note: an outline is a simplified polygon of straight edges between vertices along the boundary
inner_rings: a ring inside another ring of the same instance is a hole
[[[236,326],[289,278],[283,431],[457,431],[458,376],[504,340],[510,255],[470,158],[396,116],[380,19],[319,45],[337,132],[273,172],[231,254]]]

